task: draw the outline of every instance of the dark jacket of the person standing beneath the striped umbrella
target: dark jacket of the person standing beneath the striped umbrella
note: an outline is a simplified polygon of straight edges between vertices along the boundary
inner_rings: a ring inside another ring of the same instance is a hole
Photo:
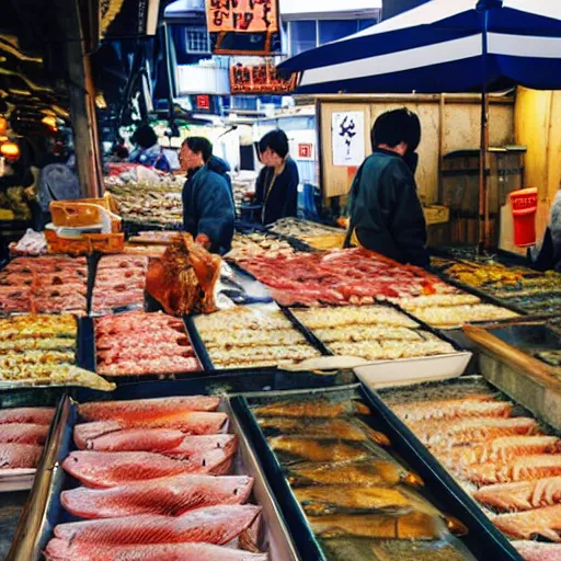
[[[402,158],[377,149],[351,187],[350,229],[365,248],[422,267],[430,265],[426,222],[413,174]]]

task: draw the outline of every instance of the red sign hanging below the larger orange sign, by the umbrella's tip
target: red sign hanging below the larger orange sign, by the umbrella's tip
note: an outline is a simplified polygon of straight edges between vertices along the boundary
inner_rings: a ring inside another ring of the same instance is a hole
[[[230,68],[230,92],[236,94],[276,93],[288,95],[296,89],[297,75],[283,78],[273,64],[234,65]]]

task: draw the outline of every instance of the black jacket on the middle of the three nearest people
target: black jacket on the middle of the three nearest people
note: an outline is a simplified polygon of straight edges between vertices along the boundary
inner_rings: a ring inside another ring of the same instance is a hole
[[[272,224],[286,216],[296,216],[298,208],[298,167],[287,158],[285,169],[274,181],[274,168],[263,168],[255,184],[255,203],[263,205],[263,224]]]

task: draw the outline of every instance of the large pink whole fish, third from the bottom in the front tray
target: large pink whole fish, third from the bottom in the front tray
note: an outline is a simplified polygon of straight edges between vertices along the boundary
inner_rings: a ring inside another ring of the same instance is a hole
[[[253,488],[245,476],[176,476],[112,489],[79,486],[62,491],[62,506],[81,518],[118,518],[135,514],[179,516],[217,504],[243,504]]]

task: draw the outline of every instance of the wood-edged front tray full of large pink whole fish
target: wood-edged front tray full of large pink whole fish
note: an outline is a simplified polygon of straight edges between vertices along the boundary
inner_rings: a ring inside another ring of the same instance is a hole
[[[9,560],[38,560],[42,551],[57,561],[96,551],[298,559],[226,400],[192,396],[188,382],[134,385],[114,397],[61,405]]]

